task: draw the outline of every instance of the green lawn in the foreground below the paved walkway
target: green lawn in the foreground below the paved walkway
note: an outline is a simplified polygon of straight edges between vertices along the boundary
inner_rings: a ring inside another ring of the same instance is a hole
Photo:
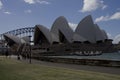
[[[120,80],[120,76],[29,64],[0,57],[0,80]]]

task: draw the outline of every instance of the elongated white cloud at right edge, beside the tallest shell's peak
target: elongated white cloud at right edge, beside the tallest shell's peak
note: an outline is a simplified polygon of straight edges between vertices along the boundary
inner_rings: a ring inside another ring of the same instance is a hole
[[[109,21],[109,20],[119,20],[120,19],[120,12],[116,12],[113,15],[109,16],[101,16],[99,18],[95,19],[95,22],[101,22],[101,21]]]

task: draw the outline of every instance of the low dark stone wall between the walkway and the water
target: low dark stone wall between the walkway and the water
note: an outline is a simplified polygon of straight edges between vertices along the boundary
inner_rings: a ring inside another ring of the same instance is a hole
[[[41,61],[49,61],[55,63],[68,63],[78,65],[91,65],[91,66],[107,66],[107,67],[120,67],[120,61],[115,60],[100,60],[100,59],[75,59],[75,58],[59,58],[59,57],[34,57]]]

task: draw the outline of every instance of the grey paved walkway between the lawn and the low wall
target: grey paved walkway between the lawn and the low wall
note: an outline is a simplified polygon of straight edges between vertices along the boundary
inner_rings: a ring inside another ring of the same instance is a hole
[[[12,58],[17,59],[15,56]],[[20,61],[24,61],[29,63],[29,60],[21,59]],[[75,65],[75,64],[65,64],[65,63],[52,63],[52,62],[45,62],[40,60],[31,60],[32,64],[40,64],[45,66],[52,66],[52,67],[62,67],[62,68],[69,68],[69,69],[76,69],[76,70],[85,70],[85,71],[93,71],[93,72],[101,72],[101,73],[108,73],[108,74],[116,74],[120,75],[120,68],[115,67],[103,67],[103,66],[88,66],[88,65]]]

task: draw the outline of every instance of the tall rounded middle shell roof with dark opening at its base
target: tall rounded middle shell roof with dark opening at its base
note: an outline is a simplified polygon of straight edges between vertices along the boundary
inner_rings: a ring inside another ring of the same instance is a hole
[[[73,30],[69,27],[65,17],[58,17],[52,25],[51,32],[59,38],[59,31],[65,36],[68,42],[72,42]]]

